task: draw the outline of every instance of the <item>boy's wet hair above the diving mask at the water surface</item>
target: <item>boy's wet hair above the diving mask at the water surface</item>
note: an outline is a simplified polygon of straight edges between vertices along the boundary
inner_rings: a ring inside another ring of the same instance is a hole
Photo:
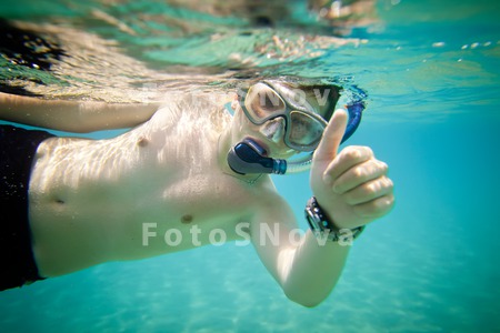
[[[239,99],[244,99],[250,87],[262,81],[271,84],[279,83],[288,89],[303,92],[306,101],[308,101],[327,122],[330,121],[340,98],[341,88],[322,79],[274,77],[253,79],[244,83],[244,85],[239,87]]]

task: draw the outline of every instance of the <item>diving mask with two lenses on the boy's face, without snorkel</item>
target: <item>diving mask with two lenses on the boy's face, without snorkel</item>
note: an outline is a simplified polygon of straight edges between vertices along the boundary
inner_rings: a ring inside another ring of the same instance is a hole
[[[292,93],[284,87],[271,87],[268,82],[259,82],[252,85],[244,100],[240,101],[241,109],[257,125],[279,117],[283,118],[286,120],[284,144],[296,151],[313,151],[328,123],[306,101],[304,97],[296,92],[294,97],[301,98],[299,102]]]

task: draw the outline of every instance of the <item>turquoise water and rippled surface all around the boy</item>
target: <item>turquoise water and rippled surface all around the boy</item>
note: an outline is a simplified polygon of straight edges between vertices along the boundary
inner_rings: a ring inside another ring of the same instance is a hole
[[[1,92],[224,105],[257,77],[342,87],[366,105],[342,147],[388,163],[396,205],[314,307],[232,242],[2,291],[0,332],[500,332],[499,13],[491,0],[1,1]],[[307,230],[308,172],[272,178]]]

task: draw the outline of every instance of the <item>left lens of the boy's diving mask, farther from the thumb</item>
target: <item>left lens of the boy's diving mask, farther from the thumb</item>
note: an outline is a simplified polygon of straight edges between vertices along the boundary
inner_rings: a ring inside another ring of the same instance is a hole
[[[286,110],[283,100],[271,88],[258,83],[250,88],[244,99],[244,107],[253,121],[264,121]]]

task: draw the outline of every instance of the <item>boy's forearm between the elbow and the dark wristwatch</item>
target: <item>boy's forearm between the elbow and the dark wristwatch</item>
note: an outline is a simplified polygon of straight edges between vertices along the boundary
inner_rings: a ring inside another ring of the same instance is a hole
[[[321,303],[337,284],[349,249],[349,245],[330,240],[322,244],[308,231],[296,250],[290,273],[282,285],[287,296],[304,306]]]

